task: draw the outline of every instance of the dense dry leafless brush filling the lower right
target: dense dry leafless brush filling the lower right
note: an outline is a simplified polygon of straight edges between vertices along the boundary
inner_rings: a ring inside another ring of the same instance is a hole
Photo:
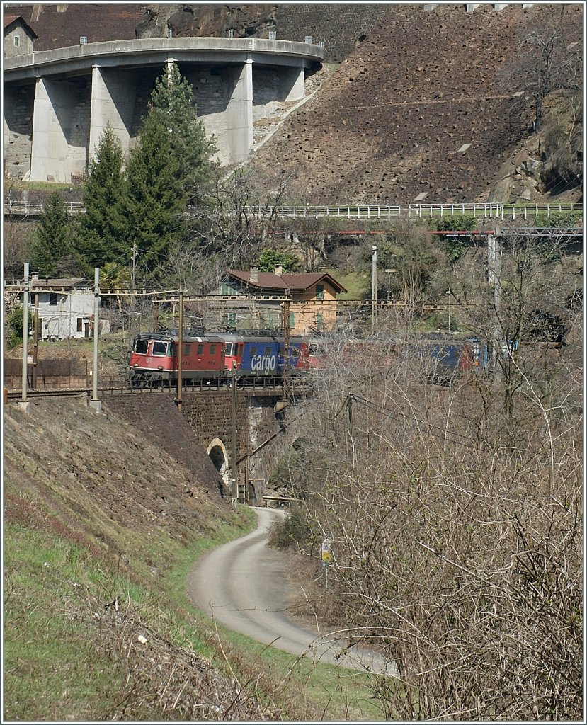
[[[564,268],[514,244],[499,307],[462,282],[461,319],[520,346],[451,386],[423,380],[401,344],[409,318],[380,318],[352,364],[325,342],[336,362],[315,373],[312,435],[284,471],[306,500],[290,533],[315,557],[333,540],[331,589],[312,606],[396,663],[401,686],[378,690],[388,718],[581,716],[582,348],[545,356],[529,334],[536,299],[564,305]]]

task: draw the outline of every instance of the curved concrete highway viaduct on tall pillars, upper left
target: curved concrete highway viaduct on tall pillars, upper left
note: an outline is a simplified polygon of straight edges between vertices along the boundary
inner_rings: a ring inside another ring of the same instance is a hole
[[[107,124],[128,152],[167,64],[190,81],[218,159],[243,162],[253,124],[275,104],[304,98],[306,72],[324,49],[259,38],[150,38],[4,59],[4,157],[8,173],[69,183],[87,170]]]

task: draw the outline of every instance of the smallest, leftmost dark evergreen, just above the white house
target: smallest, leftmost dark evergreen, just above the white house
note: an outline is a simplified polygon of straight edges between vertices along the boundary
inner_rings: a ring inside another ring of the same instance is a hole
[[[71,273],[75,268],[72,262],[72,221],[59,191],[50,194],[44,204],[35,230],[32,262],[43,277]]]

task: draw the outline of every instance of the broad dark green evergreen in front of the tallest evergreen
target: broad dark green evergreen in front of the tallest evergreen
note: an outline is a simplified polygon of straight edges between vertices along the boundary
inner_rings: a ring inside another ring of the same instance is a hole
[[[187,196],[171,136],[149,112],[126,170],[125,239],[129,248],[136,244],[141,263],[151,270],[186,233]]]

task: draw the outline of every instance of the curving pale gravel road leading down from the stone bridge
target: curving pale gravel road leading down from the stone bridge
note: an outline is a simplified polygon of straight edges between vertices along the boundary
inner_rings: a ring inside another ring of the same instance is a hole
[[[217,621],[257,642],[358,671],[394,674],[376,653],[344,651],[340,631],[311,631],[288,618],[295,590],[286,579],[283,558],[267,547],[270,526],[283,511],[255,508],[258,528],[223,544],[196,563],[188,576],[191,601]]]

